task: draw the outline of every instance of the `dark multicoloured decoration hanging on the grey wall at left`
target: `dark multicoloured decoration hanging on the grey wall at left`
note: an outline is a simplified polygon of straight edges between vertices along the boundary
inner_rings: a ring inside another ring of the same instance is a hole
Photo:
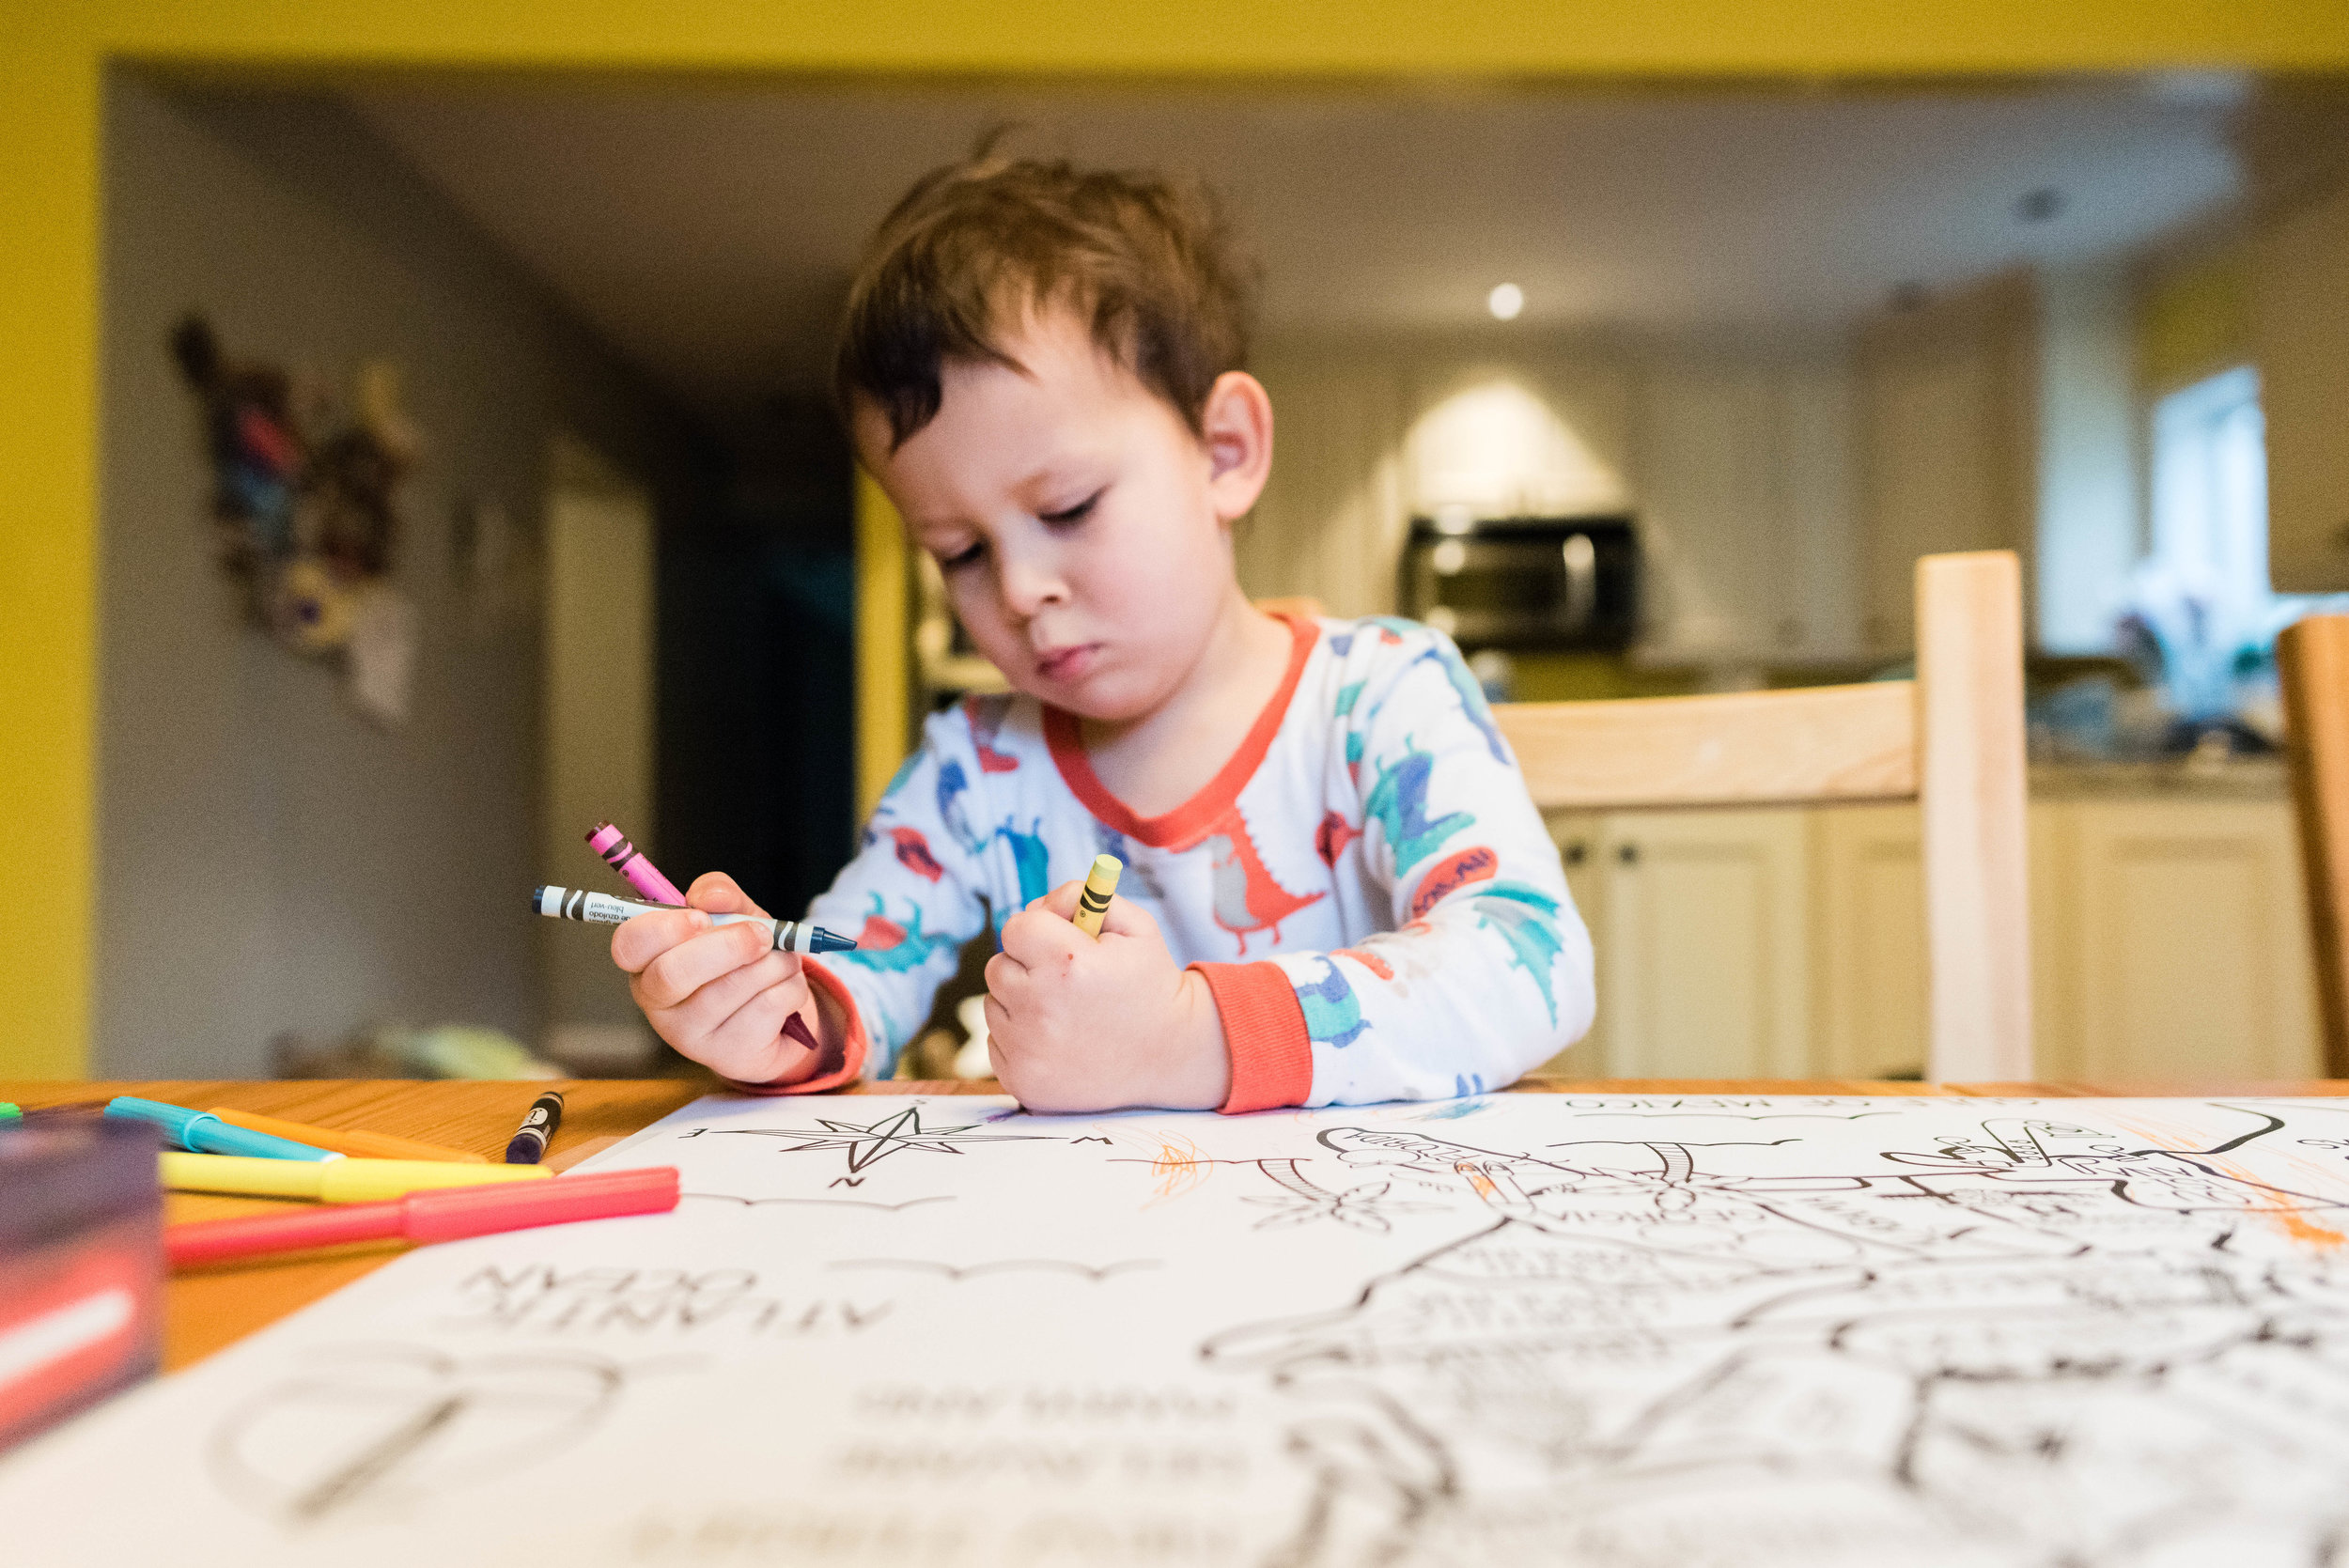
[[[284,366],[230,359],[200,315],[171,331],[171,357],[204,401],[218,561],[247,615],[284,648],[338,662],[366,716],[406,721],[416,615],[390,570],[395,493],[420,441],[397,366],[364,364],[343,399]]]

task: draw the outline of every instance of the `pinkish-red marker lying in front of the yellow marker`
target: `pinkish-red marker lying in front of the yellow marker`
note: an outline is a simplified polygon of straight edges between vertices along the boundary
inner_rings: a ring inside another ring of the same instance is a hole
[[[620,1214],[667,1214],[677,1207],[677,1167],[554,1181],[500,1183],[489,1188],[432,1188],[388,1204],[324,1204],[294,1214],[254,1214],[233,1221],[195,1221],[162,1232],[171,1268],[244,1258],[296,1246],[345,1242],[456,1242],[496,1230],[529,1230],[566,1221],[601,1221]]]

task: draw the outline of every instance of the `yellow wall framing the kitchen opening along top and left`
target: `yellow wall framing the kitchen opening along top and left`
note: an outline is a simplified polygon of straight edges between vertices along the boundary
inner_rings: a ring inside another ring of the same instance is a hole
[[[2340,0],[7,0],[0,23],[0,1073],[89,1033],[99,70],[1919,75],[2349,66]],[[23,894],[38,897],[38,901]]]

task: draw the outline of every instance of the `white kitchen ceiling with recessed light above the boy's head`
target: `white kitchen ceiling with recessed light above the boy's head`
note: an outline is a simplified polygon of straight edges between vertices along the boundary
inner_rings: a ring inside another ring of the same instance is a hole
[[[369,87],[359,113],[622,352],[731,411],[820,385],[881,214],[989,124],[1196,171],[1268,333],[1804,333],[1905,282],[2123,251],[2239,190],[2225,92]],[[2015,200],[2065,204],[2025,223]]]

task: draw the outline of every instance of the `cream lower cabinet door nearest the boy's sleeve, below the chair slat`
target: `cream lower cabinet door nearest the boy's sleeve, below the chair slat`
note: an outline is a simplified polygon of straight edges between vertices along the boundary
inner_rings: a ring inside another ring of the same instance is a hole
[[[1607,819],[1600,1019],[1618,1077],[1802,1077],[1804,812]]]

